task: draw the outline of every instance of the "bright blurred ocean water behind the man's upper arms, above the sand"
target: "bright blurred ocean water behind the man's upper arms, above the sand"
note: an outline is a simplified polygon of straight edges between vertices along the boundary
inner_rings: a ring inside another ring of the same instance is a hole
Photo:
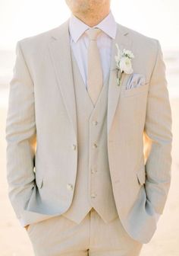
[[[164,51],[170,98],[179,98],[179,49]],[[8,103],[9,82],[15,62],[14,51],[0,50],[0,107]]]

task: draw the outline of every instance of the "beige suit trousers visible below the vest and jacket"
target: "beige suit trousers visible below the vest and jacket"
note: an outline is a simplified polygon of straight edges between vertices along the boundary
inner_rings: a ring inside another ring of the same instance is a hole
[[[118,217],[105,223],[93,208],[79,224],[55,216],[30,224],[27,234],[36,256],[137,256],[143,246]]]

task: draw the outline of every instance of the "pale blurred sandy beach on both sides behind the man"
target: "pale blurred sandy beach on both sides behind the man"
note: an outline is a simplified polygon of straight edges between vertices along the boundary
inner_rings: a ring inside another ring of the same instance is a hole
[[[158,222],[158,229],[151,242],[143,245],[141,256],[179,255],[179,100],[171,100],[173,118],[172,179],[165,210]],[[5,118],[7,107],[0,106],[0,255],[33,256],[27,232],[20,226],[8,200],[5,171]]]

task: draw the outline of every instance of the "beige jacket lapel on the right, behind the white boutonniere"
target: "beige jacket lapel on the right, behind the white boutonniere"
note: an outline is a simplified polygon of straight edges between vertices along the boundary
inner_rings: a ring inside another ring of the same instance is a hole
[[[115,116],[115,110],[118,104],[119,96],[121,93],[121,87],[124,86],[127,82],[127,79],[130,75],[122,74],[121,85],[117,85],[117,70],[116,70],[116,62],[115,55],[117,55],[117,48],[115,43],[118,43],[120,49],[131,50],[132,41],[130,37],[128,37],[127,30],[124,30],[120,24],[117,24],[117,33],[114,40],[112,40],[111,45],[111,68],[110,68],[110,78],[108,85],[108,116],[107,116],[107,127],[108,133],[111,128],[112,120]],[[120,74],[119,74],[120,75]]]

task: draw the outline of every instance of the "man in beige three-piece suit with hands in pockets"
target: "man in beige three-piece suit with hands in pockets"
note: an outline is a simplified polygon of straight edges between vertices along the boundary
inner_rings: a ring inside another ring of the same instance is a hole
[[[162,50],[110,0],[66,2],[68,21],[17,43],[8,194],[36,255],[136,256],[171,182]]]

